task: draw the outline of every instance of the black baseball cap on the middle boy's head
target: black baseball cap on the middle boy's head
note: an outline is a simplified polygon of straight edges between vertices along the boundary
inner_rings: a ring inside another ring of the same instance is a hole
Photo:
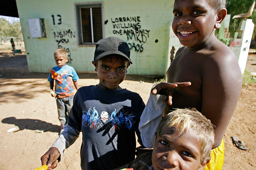
[[[128,44],[118,37],[107,37],[98,41],[96,44],[93,61],[97,62],[100,60],[100,58],[113,54],[125,57],[132,64]]]

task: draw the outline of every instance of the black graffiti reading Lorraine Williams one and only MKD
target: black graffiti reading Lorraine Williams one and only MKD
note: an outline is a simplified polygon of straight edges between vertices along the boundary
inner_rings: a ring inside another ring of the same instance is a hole
[[[142,45],[149,38],[149,30],[141,29],[140,16],[111,18],[111,22],[114,34],[126,35],[130,50],[143,51]]]

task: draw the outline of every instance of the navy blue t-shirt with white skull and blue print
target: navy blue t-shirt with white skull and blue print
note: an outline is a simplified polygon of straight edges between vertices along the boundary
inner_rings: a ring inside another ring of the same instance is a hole
[[[81,168],[113,170],[135,158],[135,131],[145,107],[139,94],[97,86],[78,89],[68,124],[82,131]]]

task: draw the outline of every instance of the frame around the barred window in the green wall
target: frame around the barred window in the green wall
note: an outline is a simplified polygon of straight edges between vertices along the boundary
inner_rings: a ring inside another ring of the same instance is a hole
[[[105,37],[105,31],[104,31],[104,7],[103,7],[103,2],[80,2],[80,3],[74,3],[74,7],[75,7],[75,17],[76,17],[76,36],[77,36],[77,46],[78,47],[88,47],[88,46],[95,46],[97,42],[90,42],[90,43],[83,43],[83,29],[82,29],[82,19],[79,18],[78,19],[78,9],[80,11],[79,16],[81,17],[81,8],[86,8],[83,6],[90,6],[90,5],[94,5],[94,4],[99,4],[101,7],[101,17],[102,17],[102,39]],[[88,8],[88,7],[87,7]],[[92,16],[91,16],[92,17]],[[80,23],[78,23],[80,22]],[[78,29],[78,27],[80,27],[80,29]],[[81,32],[80,32],[81,31]],[[92,31],[92,29],[91,29]],[[93,34],[92,34],[93,37]],[[92,38],[93,41],[93,38]],[[80,42],[82,42],[80,44]]]

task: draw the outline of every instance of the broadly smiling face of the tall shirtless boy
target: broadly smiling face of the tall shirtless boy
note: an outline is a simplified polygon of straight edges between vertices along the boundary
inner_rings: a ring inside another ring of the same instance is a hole
[[[173,14],[173,32],[184,46],[197,47],[214,36],[217,13],[206,0],[179,0]]]

